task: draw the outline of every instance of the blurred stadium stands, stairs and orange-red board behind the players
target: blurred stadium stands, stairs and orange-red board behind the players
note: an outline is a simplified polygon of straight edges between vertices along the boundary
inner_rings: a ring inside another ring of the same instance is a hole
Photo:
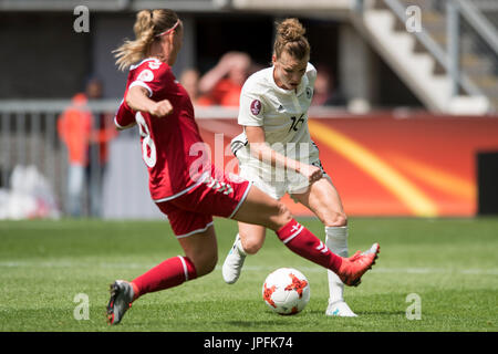
[[[74,30],[77,6],[90,10],[87,32]],[[398,11],[411,6],[421,11],[422,31],[408,30],[416,12]],[[247,52],[267,66],[274,21],[298,17],[304,23],[311,62],[331,71],[344,97],[334,107],[313,107],[310,132],[350,216],[498,212],[496,1],[1,0],[0,217],[65,215],[68,152],[56,121],[90,76],[104,82],[93,112],[114,112],[126,73],[117,71],[111,51],[133,38],[136,10],[159,7],[174,9],[185,23],[177,76],[189,67],[205,73],[228,51]],[[196,115],[214,150],[216,134],[224,134],[226,146],[240,132],[237,110],[199,107]],[[136,128],[111,142],[101,217],[162,217],[149,199],[139,148]],[[12,206],[17,166],[37,167],[60,214],[40,207],[46,196],[37,192],[24,196],[39,201],[34,210],[22,214],[22,198]]]

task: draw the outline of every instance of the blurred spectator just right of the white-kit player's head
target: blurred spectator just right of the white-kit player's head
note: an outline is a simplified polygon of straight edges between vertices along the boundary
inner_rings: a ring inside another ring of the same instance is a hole
[[[335,86],[333,75],[324,65],[317,67],[317,80],[311,104],[314,106],[344,106],[346,104],[344,96]]]

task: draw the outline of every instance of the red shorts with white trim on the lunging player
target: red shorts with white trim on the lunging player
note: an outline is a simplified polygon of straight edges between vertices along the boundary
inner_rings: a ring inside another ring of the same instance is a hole
[[[174,199],[156,201],[167,215],[177,238],[204,232],[212,225],[212,217],[231,218],[247,197],[251,183],[212,168],[211,176]]]

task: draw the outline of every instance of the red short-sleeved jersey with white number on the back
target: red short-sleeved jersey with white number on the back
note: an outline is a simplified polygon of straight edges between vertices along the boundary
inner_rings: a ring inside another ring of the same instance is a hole
[[[146,59],[131,66],[124,97],[136,85],[146,88],[155,102],[168,100],[173,113],[164,117],[152,116],[133,111],[123,100],[114,122],[121,128],[135,122],[138,124],[151,196],[157,202],[174,199],[207,177],[199,169],[200,157],[207,157],[207,153],[194,118],[194,107],[172,67],[157,59]]]

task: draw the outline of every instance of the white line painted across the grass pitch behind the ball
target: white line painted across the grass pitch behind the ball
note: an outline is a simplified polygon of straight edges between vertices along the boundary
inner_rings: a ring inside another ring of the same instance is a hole
[[[110,262],[74,262],[74,261],[2,261],[0,268],[105,268],[105,269],[149,269],[153,263],[110,263]],[[324,270],[320,267],[298,267],[299,270],[310,273],[319,273]],[[271,272],[277,267],[271,266],[246,266],[243,271],[266,271]],[[221,270],[217,266],[216,270]],[[374,267],[373,273],[397,273],[397,274],[468,274],[468,275],[498,275],[498,269],[439,269],[439,268],[383,268]]]

